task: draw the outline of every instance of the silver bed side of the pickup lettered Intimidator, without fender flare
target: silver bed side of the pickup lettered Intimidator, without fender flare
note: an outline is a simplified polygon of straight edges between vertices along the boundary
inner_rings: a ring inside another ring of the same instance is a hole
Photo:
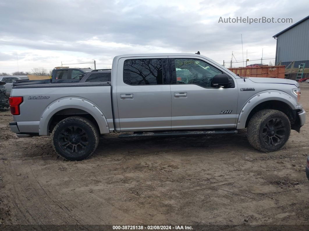
[[[53,103],[68,98],[90,102],[102,111],[112,126],[111,85],[108,82],[17,85],[12,88],[11,96],[23,96],[20,115],[13,116],[21,133],[39,133],[44,111]],[[70,105],[66,107],[69,108]]]

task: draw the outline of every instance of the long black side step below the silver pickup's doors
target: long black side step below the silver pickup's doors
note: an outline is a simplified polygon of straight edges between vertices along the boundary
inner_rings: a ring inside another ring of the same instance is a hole
[[[187,131],[187,132],[147,132],[136,134],[121,134],[119,138],[145,137],[145,136],[191,136],[191,135],[216,135],[216,134],[237,134],[237,130],[214,130],[214,131]]]

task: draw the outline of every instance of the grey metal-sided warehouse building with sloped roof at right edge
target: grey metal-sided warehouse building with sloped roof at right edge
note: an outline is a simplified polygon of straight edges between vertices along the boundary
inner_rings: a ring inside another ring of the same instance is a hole
[[[289,65],[294,60],[294,67],[301,63],[309,67],[309,16],[273,38],[277,39],[276,64]]]

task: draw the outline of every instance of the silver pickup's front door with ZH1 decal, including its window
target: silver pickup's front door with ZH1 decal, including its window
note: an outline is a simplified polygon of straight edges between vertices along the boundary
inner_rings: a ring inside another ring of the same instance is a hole
[[[212,78],[223,69],[206,61],[171,58],[177,83],[171,85],[171,130],[234,128],[238,90],[233,77],[230,88],[211,86]]]

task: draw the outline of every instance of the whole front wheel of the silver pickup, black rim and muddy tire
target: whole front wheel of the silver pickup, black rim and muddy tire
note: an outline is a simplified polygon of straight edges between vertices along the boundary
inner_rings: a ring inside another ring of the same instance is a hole
[[[281,149],[290,137],[291,124],[285,113],[263,109],[248,123],[249,143],[257,150],[268,152]]]

